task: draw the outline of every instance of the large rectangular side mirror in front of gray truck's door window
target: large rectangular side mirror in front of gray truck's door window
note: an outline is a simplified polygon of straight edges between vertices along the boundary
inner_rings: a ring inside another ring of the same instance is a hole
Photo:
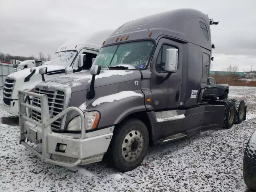
[[[178,49],[167,49],[165,70],[167,72],[177,72],[178,69]]]

